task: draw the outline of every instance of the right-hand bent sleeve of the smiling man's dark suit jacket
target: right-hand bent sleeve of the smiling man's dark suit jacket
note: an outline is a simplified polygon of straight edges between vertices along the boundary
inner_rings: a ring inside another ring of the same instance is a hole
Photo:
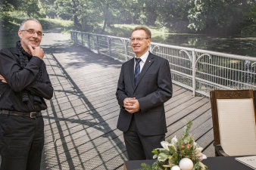
[[[139,107],[142,113],[164,104],[173,95],[173,85],[171,81],[170,66],[168,60],[164,60],[158,72],[158,90],[139,98]]]

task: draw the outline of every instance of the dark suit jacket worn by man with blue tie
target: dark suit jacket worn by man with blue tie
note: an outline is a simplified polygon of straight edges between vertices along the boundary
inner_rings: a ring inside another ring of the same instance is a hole
[[[134,83],[134,58],[123,63],[117,84],[117,100],[120,115],[117,128],[127,131],[133,115],[136,126],[142,135],[157,135],[167,132],[164,102],[173,94],[169,62],[149,53],[142,71]],[[136,97],[140,110],[128,113],[123,108],[126,97]]]

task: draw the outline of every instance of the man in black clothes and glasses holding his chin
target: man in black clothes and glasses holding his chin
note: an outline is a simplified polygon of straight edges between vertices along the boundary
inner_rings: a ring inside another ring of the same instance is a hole
[[[42,26],[24,20],[16,48],[0,51],[0,154],[1,170],[39,170],[44,145],[41,110],[51,99],[52,83],[39,47]]]

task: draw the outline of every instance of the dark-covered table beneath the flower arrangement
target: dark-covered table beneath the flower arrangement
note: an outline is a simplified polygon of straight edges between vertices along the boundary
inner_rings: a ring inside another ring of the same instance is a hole
[[[247,165],[242,164],[235,160],[238,156],[219,156],[219,157],[208,157],[202,162],[208,166],[209,170],[252,170]],[[134,170],[141,168],[142,163],[151,165],[155,160],[133,160],[126,161],[124,163],[124,170]]]

